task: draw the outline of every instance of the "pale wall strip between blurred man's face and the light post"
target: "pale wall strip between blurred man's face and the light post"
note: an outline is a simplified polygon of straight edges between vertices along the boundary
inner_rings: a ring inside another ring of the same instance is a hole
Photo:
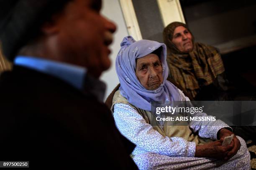
[[[118,76],[115,72],[115,58],[120,50],[120,42],[123,40],[123,37],[128,35],[128,31],[125,25],[119,0],[102,0],[102,14],[108,19],[113,20],[118,27],[114,35],[114,42],[110,46],[112,51],[110,54],[112,65],[110,69],[104,72],[100,77],[100,79],[107,84],[107,90],[105,93],[106,99],[110,92],[112,92],[115,86],[119,83]]]

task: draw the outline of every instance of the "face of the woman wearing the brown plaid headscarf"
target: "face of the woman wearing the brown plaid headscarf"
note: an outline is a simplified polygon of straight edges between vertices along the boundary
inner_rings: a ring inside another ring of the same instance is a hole
[[[193,49],[192,35],[183,26],[175,28],[172,42],[181,52],[190,52]]]

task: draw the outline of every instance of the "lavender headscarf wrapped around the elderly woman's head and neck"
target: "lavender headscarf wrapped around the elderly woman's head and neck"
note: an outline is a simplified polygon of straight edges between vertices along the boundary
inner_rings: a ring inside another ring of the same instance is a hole
[[[121,42],[121,49],[115,60],[115,68],[120,81],[120,93],[128,102],[143,110],[151,110],[152,101],[180,101],[177,87],[167,81],[166,45],[151,40],[135,41],[127,36]],[[136,77],[136,59],[144,57],[162,47],[160,60],[163,67],[163,83],[156,90],[146,90]]]

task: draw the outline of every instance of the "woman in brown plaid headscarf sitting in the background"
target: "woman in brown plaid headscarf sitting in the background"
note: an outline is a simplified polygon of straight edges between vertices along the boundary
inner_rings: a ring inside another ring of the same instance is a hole
[[[215,47],[194,42],[187,25],[179,22],[167,25],[163,37],[169,77],[196,100],[229,100],[225,68]]]

